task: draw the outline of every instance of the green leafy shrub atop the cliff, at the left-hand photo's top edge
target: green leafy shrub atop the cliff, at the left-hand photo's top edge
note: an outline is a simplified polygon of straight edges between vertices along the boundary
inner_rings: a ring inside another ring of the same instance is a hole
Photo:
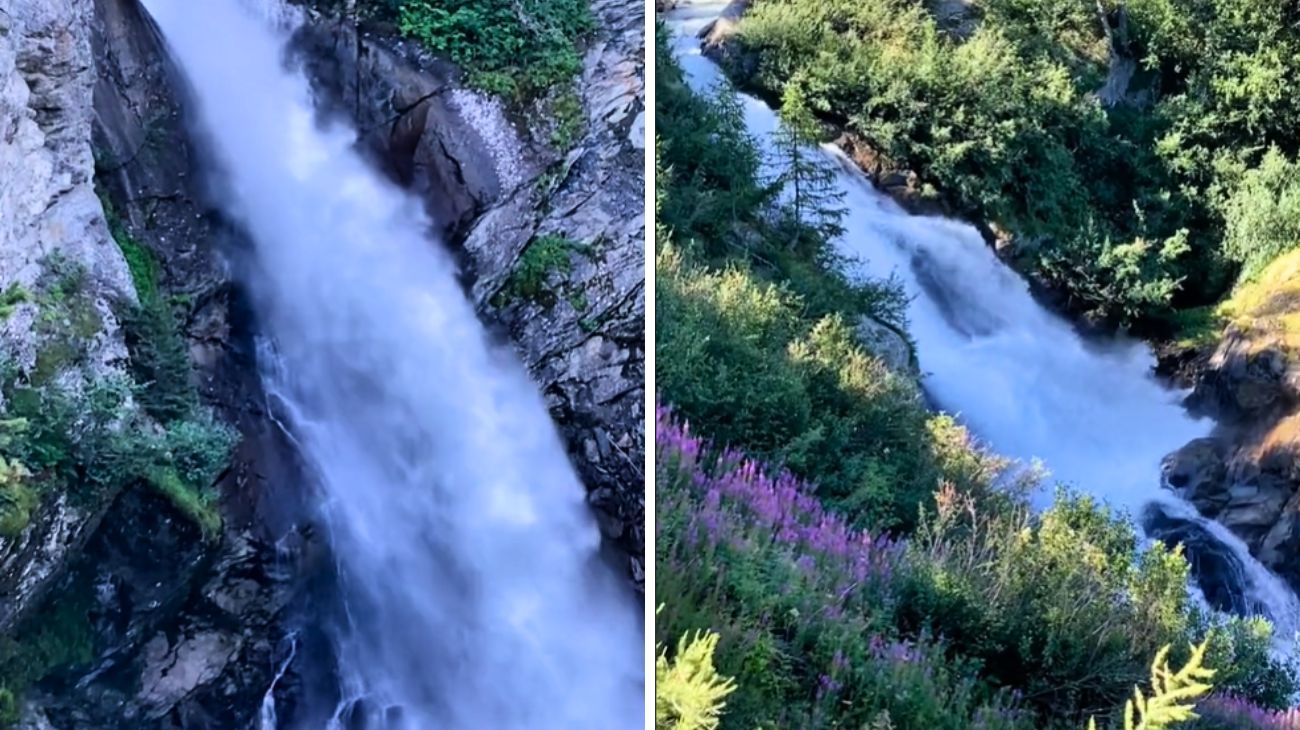
[[[538,96],[581,70],[577,43],[594,19],[586,0],[400,0],[402,32],[446,53],[474,86]]]

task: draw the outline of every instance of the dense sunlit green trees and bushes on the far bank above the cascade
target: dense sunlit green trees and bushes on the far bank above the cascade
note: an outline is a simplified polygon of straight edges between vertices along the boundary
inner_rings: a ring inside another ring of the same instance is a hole
[[[914,0],[758,3],[746,81],[992,221],[1098,318],[1166,327],[1295,245],[1294,4],[971,5],[958,30]],[[1139,60],[1131,78],[1112,49]]]

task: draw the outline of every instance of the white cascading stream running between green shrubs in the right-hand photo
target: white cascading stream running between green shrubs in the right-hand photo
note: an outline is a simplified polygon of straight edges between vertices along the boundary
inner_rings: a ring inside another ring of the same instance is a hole
[[[670,14],[673,53],[696,90],[722,79],[697,39],[722,8],[688,0]],[[777,114],[758,99],[740,99],[750,134],[771,152]],[[1208,551],[1205,560],[1226,565],[1239,595],[1212,603],[1269,616],[1278,648],[1290,651],[1300,627],[1295,594],[1226,527],[1161,488],[1161,460],[1208,435],[1213,423],[1193,420],[1180,405],[1186,394],[1152,377],[1150,352],[1136,342],[1082,338],[1034,300],[1028,284],[972,226],[911,216],[837,148],[823,152],[837,170],[848,209],[836,247],[858,262],[853,273],[902,282],[911,297],[909,330],[933,401],[959,414],[998,453],[1040,461],[1056,481],[1135,517],[1158,510],[1165,523]],[[1050,496],[1035,500],[1041,505]]]

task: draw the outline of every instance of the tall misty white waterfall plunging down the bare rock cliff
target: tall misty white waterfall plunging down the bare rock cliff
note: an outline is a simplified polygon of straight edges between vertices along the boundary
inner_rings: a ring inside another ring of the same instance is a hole
[[[541,395],[485,339],[430,222],[321,127],[285,39],[235,0],[146,0],[250,234],[248,284],[339,564],[330,727],[644,721],[642,610]],[[273,716],[273,708],[265,716]]]

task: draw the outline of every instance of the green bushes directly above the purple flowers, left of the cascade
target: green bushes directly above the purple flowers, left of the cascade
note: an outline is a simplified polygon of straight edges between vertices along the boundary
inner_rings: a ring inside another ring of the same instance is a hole
[[[941,474],[920,391],[836,314],[742,268],[656,257],[656,384],[702,433],[785,464],[874,525],[907,526]]]

